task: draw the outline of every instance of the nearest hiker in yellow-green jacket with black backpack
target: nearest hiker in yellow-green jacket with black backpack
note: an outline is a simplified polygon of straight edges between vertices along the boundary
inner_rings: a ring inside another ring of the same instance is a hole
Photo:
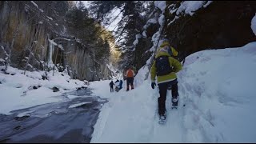
[[[163,42],[150,69],[152,89],[156,86],[155,76],[157,75],[158,78],[160,94],[158,98],[158,114],[163,119],[166,118],[166,94],[168,86],[172,86],[172,106],[176,108],[178,106],[178,81],[175,73],[182,70],[182,64],[177,59],[170,57],[168,50],[170,50],[170,45],[166,45]]]

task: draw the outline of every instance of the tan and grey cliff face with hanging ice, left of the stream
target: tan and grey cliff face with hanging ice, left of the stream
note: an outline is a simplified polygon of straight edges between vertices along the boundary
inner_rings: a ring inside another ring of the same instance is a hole
[[[72,2],[0,2],[0,61],[22,70],[66,69],[81,80],[107,79],[105,62],[66,31],[65,15]],[[29,62],[28,62],[29,61]]]

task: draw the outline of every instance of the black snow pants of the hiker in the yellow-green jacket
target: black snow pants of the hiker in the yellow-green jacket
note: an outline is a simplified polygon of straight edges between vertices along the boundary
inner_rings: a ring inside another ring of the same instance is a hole
[[[166,111],[166,94],[167,94],[167,88],[171,85],[171,95],[172,98],[178,97],[178,81],[175,79],[171,82],[163,82],[159,83],[159,94],[160,97],[158,98],[158,114],[165,114]]]

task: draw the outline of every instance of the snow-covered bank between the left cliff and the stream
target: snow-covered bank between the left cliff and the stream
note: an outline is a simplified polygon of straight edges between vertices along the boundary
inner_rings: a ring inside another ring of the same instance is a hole
[[[0,70],[3,69],[4,66],[0,66]],[[9,74],[0,72],[0,114],[11,114],[12,110],[59,102],[63,100],[59,97],[63,92],[86,87],[85,82],[70,79],[65,73],[54,72],[53,76],[53,71],[50,71],[48,79],[43,80],[43,71],[26,71],[24,75],[24,70],[9,66],[6,72]],[[53,92],[54,87],[59,91]]]

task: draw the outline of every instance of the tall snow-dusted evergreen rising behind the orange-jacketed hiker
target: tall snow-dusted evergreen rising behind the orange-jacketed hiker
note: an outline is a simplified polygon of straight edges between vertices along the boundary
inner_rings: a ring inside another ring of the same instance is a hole
[[[146,17],[150,14],[150,10],[154,6],[153,1],[94,1],[91,3],[90,13],[94,14],[94,17],[98,22],[102,22],[105,25],[110,25],[114,18],[112,13],[114,9],[119,8],[122,13],[122,18],[117,24],[117,29],[114,30],[116,38],[116,44],[122,51],[119,66],[129,65],[127,63],[134,62],[134,46],[136,34],[141,34],[143,26],[146,23]],[[126,63],[126,64],[123,64]],[[123,68],[123,67],[120,67]]]

